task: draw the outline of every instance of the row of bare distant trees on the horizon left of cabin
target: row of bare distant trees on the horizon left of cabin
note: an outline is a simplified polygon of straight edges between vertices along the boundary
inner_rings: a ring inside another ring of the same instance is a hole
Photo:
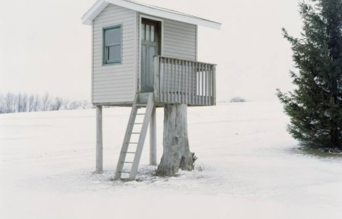
[[[69,101],[50,94],[0,93],[0,114],[89,109],[88,100]]]

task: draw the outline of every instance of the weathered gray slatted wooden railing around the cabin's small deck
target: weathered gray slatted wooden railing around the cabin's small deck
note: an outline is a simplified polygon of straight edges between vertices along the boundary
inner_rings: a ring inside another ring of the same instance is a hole
[[[216,65],[161,56],[154,64],[156,102],[216,104]]]

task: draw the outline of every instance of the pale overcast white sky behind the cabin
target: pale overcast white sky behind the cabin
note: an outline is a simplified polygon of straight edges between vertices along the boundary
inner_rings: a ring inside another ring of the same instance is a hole
[[[298,0],[139,0],[221,22],[199,28],[199,61],[216,63],[217,97],[272,101],[291,88],[284,26],[298,36]],[[81,16],[95,0],[1,1],[0,92],[90,100],[91,27]]]

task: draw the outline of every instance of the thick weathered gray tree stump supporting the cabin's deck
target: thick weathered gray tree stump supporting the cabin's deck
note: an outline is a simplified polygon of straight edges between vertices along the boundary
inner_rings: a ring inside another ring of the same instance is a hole
[[[189,148],[187,105],[164,106],[163,156],[157,175],[173,176],[179,169],[192,171],[192,153]]]

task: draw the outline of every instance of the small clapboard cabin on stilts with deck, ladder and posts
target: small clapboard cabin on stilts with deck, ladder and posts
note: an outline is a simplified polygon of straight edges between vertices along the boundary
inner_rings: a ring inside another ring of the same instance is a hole
[[[96,172],[103,171],[102,106],[129,106],[132,111],[114,178],[126,174],[134,180],[149,125],[150,164],[157,164],[156,107],[216,104],[216,65],[197,60],[198,26],[219,30],[221,24],[126,0],[97,1],[82,23],[92,27]]]

